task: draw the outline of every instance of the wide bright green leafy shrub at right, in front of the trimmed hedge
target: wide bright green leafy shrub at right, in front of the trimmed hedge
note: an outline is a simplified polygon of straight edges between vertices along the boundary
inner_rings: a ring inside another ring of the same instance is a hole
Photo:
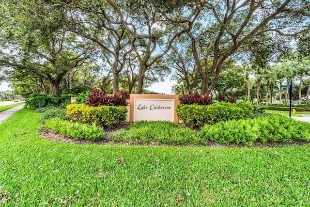
[[[199,136],[217,143],[252,145],[254,141],[293,142],[310,140],[310,134],[293,119],[270,114],[266,117],[232,120],[202,127]]]

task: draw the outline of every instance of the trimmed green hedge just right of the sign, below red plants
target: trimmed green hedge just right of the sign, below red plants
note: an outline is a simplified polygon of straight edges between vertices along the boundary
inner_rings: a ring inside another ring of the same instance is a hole
[[[253,114],[253,106],[250,102],[226,103],[221,101],[206,106],[180,104],[176,111],[179,119],[192,129],[196,124],[202,127],[205,124],[213,125],[220,121],[249,118]]]

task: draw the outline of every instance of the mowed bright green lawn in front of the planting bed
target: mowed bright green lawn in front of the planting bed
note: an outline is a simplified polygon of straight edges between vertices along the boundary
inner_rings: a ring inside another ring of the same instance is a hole
[[[39,116],[0,124],[0,206],[310,206],[310,145],[68,144],[41,138]]]

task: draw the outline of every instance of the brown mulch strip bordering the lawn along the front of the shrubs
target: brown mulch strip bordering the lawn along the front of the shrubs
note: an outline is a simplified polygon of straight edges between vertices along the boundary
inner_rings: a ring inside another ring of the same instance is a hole
[[[117,129],[117,130],[122,130],[121,129]],[[136,143],[136,142],[129,142],[129,143],[125,143],[125,142],[121,142],[121,143],[114,143],[109,141],[108,136],[106,135],[105,138],[103,140],[100,141],[90,141],[90,140],[81,140],[81,139],[74,139],[74,138],[70,138],[67,136],[63,136],[62,134],[60,134],[59,132],[55,132],[49,129],[42,129],[39,134],[41,135],[41,137],[43,137],[44,139],[47,139],[49,141],[56,141],[56,142],[62,142],[62,143],[75,143],[75,144],[102,144],[102,145],[141,145],[141,146],[180,146],[180,145],[171,145],[171,144],[161,144],[161,143]],[[310,141],[309,140],[297,140],[295,142],[292,143],[273,143],[273,142],[265,142],[265,143],[261,143],[261,142],[254,142],[253,146],[248,146],[245,144],[219,144],[216,142],[212,142],[212,141],[208,141],[207,143],[205,143],[204,146],[206,147],[225,147],[225,148],[231,148],[231,147],[237,147],[237,148],[269,148],[269,147],[286,147],[286,146],[299,146],[299,145],[304,145],[304,144],[309,144]],[[188,145],[182,145],[182,146],[194,146],[191,144]]]

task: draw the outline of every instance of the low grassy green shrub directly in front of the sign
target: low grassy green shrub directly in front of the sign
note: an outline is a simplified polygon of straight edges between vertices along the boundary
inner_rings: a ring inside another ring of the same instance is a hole
[[[110,134],[114,142],[164,143],[164,144],[201,144],[195,131],[183,128],[168,121],[140,121],[131,124],[117,134]]]

